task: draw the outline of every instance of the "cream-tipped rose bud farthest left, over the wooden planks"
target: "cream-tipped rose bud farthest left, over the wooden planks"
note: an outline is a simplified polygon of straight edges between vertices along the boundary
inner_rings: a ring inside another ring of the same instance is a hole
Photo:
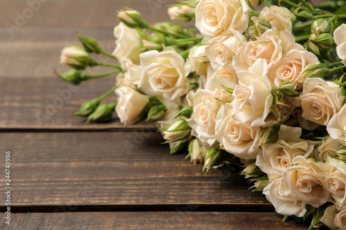
[[[62,50],[60,63],[76,70],[84,70],[90,64],[90,56],[84,48],[69,46]]]

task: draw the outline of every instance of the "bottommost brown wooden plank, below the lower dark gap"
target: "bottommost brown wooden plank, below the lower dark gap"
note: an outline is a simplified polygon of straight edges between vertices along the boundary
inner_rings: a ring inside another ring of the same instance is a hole
[[[0,214],[5,229],[199,229],[258,230],[301,229],[307,224],[274,213],[233,212],[99,212],[99,213],[12,213],[10,227]]]

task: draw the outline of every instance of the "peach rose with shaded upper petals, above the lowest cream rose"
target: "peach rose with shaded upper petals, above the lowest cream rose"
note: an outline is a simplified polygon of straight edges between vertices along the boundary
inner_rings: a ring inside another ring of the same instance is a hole
[[[281,177],[284,171],[293,166],[293,159],[296,156],[308,157],[313,151],[314,145],[300,140],[300,135],[302,135],[301,128],[282,125],[279,139],[261,148],[257,155],[256,165],[270,176]]]

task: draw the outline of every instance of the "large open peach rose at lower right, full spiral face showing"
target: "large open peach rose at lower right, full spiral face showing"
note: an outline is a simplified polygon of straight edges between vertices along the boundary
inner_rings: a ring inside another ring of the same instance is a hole
[[[293,166],[282,175],[285,186],[295,195],[313,207],[320,207],[329,200],[330,194],[325,187],[327,166],[323,162],[314,162],[298,155],[292,161]]]

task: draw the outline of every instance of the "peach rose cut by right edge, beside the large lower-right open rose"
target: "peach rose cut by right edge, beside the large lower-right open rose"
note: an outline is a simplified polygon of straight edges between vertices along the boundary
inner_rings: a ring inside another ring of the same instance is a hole
[[[346,207],[346,164],[328,157],[326,165],[329,168],[328,176],[325,178],[326,188],[338,207]]]

